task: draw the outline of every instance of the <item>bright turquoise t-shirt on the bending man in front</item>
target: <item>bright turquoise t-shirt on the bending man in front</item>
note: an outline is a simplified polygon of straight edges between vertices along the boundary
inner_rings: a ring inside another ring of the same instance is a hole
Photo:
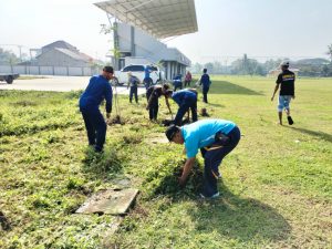
[[[203,120],[181,127],[187,158],[195,157],[198,149],[214,144],[216,133],[227,135],[236,126],[231,121]]]

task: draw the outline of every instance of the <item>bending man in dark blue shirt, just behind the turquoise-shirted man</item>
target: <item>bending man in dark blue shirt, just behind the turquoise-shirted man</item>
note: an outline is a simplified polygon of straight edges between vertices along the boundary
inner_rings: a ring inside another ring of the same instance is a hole
[[[190,90],[180,90],[173,92],[172,90],[166,91],[166,97],[172,97],[179,106],[174,124],[180,125],[186,112],[191,110],[193,122],[197,121],[197,93]]]

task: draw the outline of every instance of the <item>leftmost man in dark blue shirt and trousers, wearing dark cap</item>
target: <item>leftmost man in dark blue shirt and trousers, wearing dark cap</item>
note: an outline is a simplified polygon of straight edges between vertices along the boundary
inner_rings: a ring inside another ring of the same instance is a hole
[[[102,152],[106,136],[106,123],[100,111],[103,100],[106,100],[106,117],[112,112],[112,87],[108,81],[113,77],[113,68],[105,66],[101,75],[90,79],[89,85],[80,97],[82,113],[87,132],[89,145],[96,152]]]

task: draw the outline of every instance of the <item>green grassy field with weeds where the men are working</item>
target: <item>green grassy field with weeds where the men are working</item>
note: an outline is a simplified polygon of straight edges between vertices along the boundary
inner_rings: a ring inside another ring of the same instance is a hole
[[[187,187],[174,185],[183,147],[152,142],[165,127],[148,122],[145,98],[120,97],[125,125],[108,126],[95,155],[80,93],[0,91],[0,248],[332,248],[332,80],[298,80],[293,126],[277,125],[273,87],[215,76],[211,104],[199,94],[199,108],[243,134],[212,201],[196,197],[200,156]],[[163,101],[160,110],[169,118]],[[141,194],[114,236],[116,217],[74,214],[123,181]]]

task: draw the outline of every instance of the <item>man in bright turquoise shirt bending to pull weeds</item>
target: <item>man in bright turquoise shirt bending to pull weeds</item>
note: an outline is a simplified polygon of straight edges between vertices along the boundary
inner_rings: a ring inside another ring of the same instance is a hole
[[[183,127],[169,126],[166,136],[169,142],[185,144],[187,160],[179,177],[179,185],[186,183],[200,148],[204,157],[204,188],[200,196],[218,197],[217,179],[221,177],[218,167],[240,141],[238,126],[230,121],[203,120]]]

